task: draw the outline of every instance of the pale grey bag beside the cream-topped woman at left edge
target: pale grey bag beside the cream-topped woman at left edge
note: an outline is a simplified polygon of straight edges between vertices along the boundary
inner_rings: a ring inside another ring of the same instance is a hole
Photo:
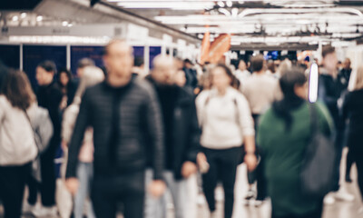
[[[41,183],[42,176],[40,167],[40,154],[43,154],[50,144],[51,138],[53,136],[53,124],[48,111],[39,106],[36,107],[33,122],[26,111],[25,115],[32,127],[34,142],[38,150],[38,154],[32,163],[31,174],[37,182]]]

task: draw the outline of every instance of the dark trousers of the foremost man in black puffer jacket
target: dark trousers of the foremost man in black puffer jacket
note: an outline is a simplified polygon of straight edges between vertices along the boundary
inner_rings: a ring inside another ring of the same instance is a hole
[[[124,218],[143,216],[145,173],[103,176],[94,173],[91,198],[97,218],[115,218],[117,204],[123,203]]]

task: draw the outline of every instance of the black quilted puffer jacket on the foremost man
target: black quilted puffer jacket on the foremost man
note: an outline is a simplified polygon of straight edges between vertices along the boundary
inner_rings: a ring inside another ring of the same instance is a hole
[[[147,156],[150,155],[154,178],[162,178],[162,116],[156,94],[150,84],[141,80],[133,79],[126,86],[127,89],[118,93],[122,95],[118,104],[115,104],[114,96],[115,92],[120,90],[106,82],[96,84],[85,91],[69,145],[66,177],[75,177],[83,134],[86,128],[91,126],[94,176],[143,171]],[[115,109],[118,110],[118,120],[113,119]],[[114,140],[115,135],[117,140]],[[148,146],[152,147],[152,154],[147,153]],[[113,149],[113,154],[110,153],[110,149]],[[110,161],[112,157],[114,162]]]

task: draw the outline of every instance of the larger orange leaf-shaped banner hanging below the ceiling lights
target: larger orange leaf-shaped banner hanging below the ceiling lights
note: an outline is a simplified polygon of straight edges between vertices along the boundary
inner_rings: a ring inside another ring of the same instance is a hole
[[[231,48],[231,35],[223,34],[218,36],[214,42],[211,43],[208,61],[216,64],[221,59],[224,53],[230,51]]]

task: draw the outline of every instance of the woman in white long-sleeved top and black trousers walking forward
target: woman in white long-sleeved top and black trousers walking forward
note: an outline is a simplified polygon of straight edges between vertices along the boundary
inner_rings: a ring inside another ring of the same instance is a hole
[[[203,190],[211,213],[215,212],[214,190],[219,180],[225,194],[224,217],[231,218],[234,203],[234,183],[241,159],[241,145],[246,151],[245,163],[252,171],[257,163],[255,137],[250,106],[243,94],[234,88],[234,76],[224,64],[211,71],[211,90],[201,92],[196,99],[201,124],[201,146],[210,169],[202,176]]]

